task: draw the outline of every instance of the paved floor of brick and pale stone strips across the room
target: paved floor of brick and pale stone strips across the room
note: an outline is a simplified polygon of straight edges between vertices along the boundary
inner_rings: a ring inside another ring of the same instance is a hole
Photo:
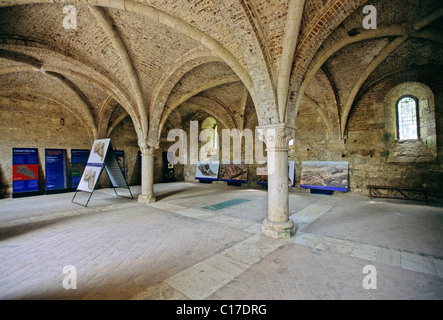
[[[0,299],[443,298],[440,206],[291,192],[297,233],[276,240],[261,234],[264,189],[155,192],[151,205],[112,189],[86,208],[73,193],[0,200]]]

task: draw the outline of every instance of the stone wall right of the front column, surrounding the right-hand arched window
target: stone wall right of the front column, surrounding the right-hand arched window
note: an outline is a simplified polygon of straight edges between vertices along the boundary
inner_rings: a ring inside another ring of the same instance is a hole
[[[296,149],[290,153],[296,161],[297,183],[302,161],[348,161],[351,192],[368,194],[367,185],[381,185],[429,188],[434,197],[442,196],[443,166],[437,157],[442,107],[440,98],[435,98],[441,94],[434,96],[419,83],[402,84],[386,96],[380,95],[379,89],[355,106],[343,140],[328,139],[318,117],[315,120],[314,114],[301,110]],[[419,140],[397,140],[395,107],[403,95],[414,95],[419,101]]]

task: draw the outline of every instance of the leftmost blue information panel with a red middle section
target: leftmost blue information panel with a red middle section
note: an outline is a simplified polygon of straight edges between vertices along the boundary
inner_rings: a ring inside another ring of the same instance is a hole
[[[38,149],[12,148],[12,193],[38,192]]]

